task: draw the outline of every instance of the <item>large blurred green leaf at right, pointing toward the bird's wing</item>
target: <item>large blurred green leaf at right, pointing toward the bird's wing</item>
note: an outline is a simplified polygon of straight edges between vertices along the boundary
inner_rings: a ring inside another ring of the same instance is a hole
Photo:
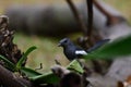
[[[88,53],[85,59],[112,59],[131,54],[131,35],[118,38]]]

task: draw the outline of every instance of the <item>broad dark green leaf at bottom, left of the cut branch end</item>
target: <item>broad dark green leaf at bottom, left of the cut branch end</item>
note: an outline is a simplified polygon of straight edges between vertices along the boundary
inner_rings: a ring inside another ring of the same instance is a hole
[[[45,73],[43,75],[29,77],[35,84],[56,84],[60,80],[60,78],[55,75],[52,72]]]

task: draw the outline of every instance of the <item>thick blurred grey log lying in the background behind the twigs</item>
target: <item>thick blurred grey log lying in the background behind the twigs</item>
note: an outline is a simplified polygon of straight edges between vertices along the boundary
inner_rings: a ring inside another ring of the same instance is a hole
[[[119,18],[123,18],[121,14],[100,2],[106,11]],[[87,24],[87,10],[86,2],[75,4],[82,20]],[[49,36],[66,36],[69,33],[81,32],[75,18],[68,4],[53,4],[53,5],[34,5],[23,7],[13,5],[5,10],[4,14],[10,17],[10,26],[12,29],[21,30],[27,34],[49,35]],[[106,30],[110,28],[107,26],[108,18],[94,7],[94,21],[93,27],[96,30]],[[120,21],[126,22],[126,21]],[[128,25],[126,25],[128,26]]]

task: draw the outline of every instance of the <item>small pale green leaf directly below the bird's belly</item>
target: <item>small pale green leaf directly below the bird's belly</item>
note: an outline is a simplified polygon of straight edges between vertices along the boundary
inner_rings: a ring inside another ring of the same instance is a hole
[[[73,60],[68,66],[67,66],[68,70],[73,70],[75,72],[79,72],[79,73],[83,73],[83,69],[82,66],[80,65],[80,62],[78,62],[76,60]]]

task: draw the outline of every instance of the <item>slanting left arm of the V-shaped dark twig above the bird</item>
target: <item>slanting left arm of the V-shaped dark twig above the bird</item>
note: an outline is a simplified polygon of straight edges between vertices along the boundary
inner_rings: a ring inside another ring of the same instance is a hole
[[[72,0],[66,0],[66,1],[68,2],[70,9],[72,10],[72,12],[73,12],[73,14],[74,14],[74,17],[75,17],[75,20],[76,20],[79,26],[81,27],[81,29],[82,29],[84,36],[86,36],[86,35],[87,35],[86,25],[85,25],[84,22],[82,21],[82,17],[81,17],[81,15],[79,14],[79,12],[78,12],[75,5],[73,4]]]

